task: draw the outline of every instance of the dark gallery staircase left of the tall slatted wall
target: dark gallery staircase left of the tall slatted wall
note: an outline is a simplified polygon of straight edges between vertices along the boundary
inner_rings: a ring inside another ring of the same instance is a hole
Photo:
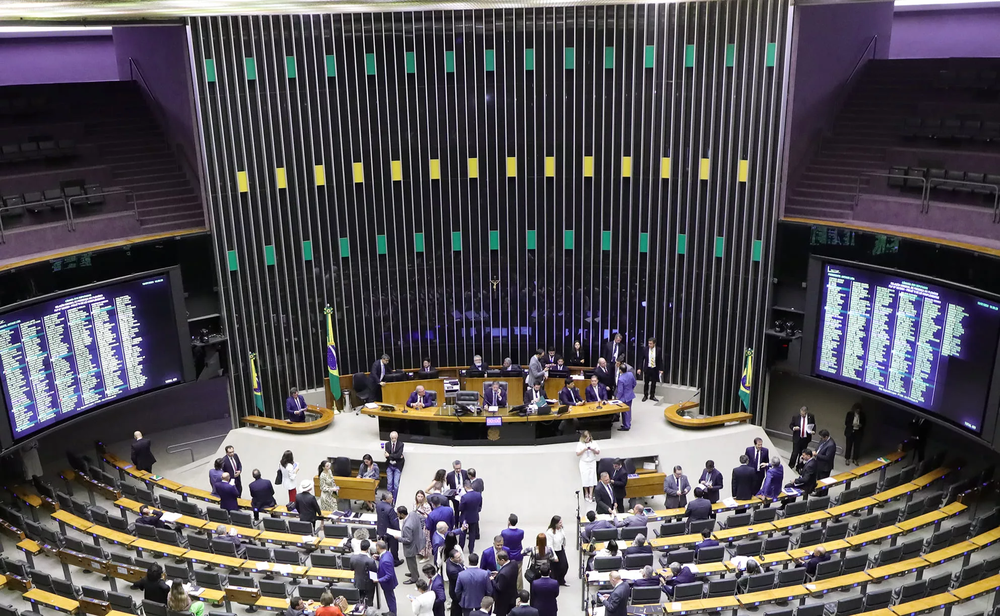
[[[87,140],[98,147],[100,164],[112,170],[113,185],[135,193],[143,233],[205,226],[197,186],[181,168],[139,86],[105,82],[104,117],[86,122]]]

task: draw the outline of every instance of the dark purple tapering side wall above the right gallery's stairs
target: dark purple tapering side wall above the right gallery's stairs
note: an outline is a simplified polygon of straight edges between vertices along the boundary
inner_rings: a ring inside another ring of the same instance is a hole
[[[809,163],[872,36],[878,35],[875,57],[888,56],[892,9],[892,2],[795,7],[785,159],[789,183]]]

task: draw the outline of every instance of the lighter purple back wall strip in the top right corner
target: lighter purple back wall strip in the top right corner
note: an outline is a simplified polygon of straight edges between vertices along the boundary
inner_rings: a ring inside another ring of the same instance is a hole
[[[890,58],[1000,56],[1000,7],[896,11]]]

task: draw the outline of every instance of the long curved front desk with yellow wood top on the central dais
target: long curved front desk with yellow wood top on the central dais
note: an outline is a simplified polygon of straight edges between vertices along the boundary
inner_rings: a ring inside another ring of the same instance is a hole
[[[510,407],[497,413],[455,415],[451,406],[410,409],[402,405],[362,406],[360,412],[379,419],[380,437],[387,439],[392,431],[405,435],[407,442],[443,445],[541,445],[569,443],[580,438],[577,430],[590,430],[595,438],[611,436],[614,415],[628,410],[623,403],[588,402],[569,407],[550,405],[550,415],[521,417],[509,412]],[[497,425],[494,425],[497,424]]]

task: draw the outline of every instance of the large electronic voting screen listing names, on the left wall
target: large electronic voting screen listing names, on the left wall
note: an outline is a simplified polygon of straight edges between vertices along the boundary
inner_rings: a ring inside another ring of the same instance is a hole
[[[184,381],[170,272],[0,313],[0,388],[14,441]]]

